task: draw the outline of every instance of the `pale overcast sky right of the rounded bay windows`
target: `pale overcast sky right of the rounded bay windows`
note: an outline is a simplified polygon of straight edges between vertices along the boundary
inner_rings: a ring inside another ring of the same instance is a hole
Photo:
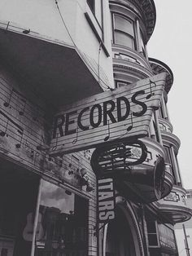
[[[184,188],[192,188],[192,1],[154,0],[155,31],[148,42],[149,57],[172,69],[174,82],[168,93],[173,133],[181,140],[178,153]]]

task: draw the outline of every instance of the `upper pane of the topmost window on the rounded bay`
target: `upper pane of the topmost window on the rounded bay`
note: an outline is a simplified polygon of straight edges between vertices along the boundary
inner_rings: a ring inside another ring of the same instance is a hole
[[[129,35],[134,36],[133,23],[129,20],[124,19],[124,17],[120,15],[115,15],[115,29],[123,31],[124,33],[129,33]]]

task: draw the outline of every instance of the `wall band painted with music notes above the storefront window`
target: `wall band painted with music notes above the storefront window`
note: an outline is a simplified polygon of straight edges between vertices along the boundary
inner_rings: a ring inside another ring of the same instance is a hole
[[[50,157],[43,150],[49,148],[51,127],[46,104],[2,70],[0,90],[0,156],[80,188],[77,170],[81,157]]]

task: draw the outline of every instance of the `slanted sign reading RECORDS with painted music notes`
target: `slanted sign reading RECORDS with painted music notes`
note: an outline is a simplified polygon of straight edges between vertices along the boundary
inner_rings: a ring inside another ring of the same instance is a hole
[[[166,73],[64,106],[55,117],[50,154],[95,148],[148,133],[153,108],[159,108]]]

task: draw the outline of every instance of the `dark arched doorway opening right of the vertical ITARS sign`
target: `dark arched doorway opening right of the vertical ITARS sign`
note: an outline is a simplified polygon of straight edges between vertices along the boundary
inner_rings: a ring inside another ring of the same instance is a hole
[[[106,256],[136,256],[128,220],[119,208],[107,227]]]

